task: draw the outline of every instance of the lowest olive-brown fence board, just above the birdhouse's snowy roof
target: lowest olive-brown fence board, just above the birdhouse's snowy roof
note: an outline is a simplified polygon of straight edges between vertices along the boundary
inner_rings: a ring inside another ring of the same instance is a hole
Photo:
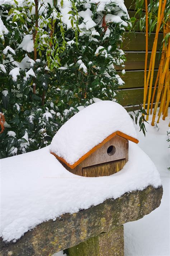
[[[116,98],[123,106],[143,104],[143,91],[143,88],[119,90]]]

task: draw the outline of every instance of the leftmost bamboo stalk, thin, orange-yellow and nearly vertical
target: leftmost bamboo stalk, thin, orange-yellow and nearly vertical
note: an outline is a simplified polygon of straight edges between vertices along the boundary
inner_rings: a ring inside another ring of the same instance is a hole
[[[146,7],[146,53],[145,53],[145,71],[144,71],[144,93],[143,93],[143,108],[145,109],[146,104],[146,78],[147,78],[147,57],[148,57],[148,9],[147,9],[147,0],[145,0]]]

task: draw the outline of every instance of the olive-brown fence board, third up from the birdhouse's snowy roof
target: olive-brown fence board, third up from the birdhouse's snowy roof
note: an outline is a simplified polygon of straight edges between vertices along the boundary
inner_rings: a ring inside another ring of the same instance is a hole
[[[147,68],[149,68],[149,63],[150,63],[150,57],[151,53],[148,53],[148,61],[147,61]],[[145,52],[144,51],[138,51],[138,52],[126,52],[126,58],[127,61],[124,63],[125,64],[125,69],[126,70],[138,70],[138,69],[145,69]],[[156,59],[155,59],[155,69],[158,69],[159,67],[159,53],[156,53]],[[116,70],[121,70],[124,69],[122,67],[116,66]]]

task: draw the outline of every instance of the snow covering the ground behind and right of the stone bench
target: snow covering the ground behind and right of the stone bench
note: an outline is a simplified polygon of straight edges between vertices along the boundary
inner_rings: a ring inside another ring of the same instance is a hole
[[[166,142],[168,124],[168,117],[165,121],[160,119],[158,128],[147,124],[146,138],[136,126],[138,145],[155,163],[161,175],[164,194],[159,208],[143,219],[124,224],[125,256],[170,255],[170,170],[167,169],[170,166],[170,151]]]

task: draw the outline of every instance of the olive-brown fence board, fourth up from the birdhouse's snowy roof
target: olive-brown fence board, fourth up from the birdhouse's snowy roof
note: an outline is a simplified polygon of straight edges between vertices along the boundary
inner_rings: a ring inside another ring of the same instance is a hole
[[[126,32],[125,39],[123,41],[123,50],[124,51],[145,51],[146,50],[145,38],[146,38],[145,33]],[[155,33],[151,33],[151,35],[148,37],[148,51],[152,50],[154,38],[155,38]],[[162,40],[163,40],[163,34],[160,34],[158,37],[157,51],[159,51],[161,48]]]

